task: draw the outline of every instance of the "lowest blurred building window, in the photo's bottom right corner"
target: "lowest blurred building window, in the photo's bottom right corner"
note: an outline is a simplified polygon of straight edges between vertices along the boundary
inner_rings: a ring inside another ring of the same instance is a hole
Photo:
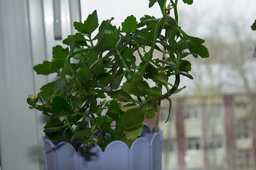
[[[238,150],[238,168],[250,169],[251,168],[251,152],[250,149]]]

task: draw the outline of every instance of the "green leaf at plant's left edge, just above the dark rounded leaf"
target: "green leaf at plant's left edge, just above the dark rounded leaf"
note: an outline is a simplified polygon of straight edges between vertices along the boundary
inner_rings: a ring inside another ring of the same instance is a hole
[[[49,98],[54,94],[54,92],[58,89],[58,81],[51,81],[50,83],[41,87],[40,94],[43,99]]]

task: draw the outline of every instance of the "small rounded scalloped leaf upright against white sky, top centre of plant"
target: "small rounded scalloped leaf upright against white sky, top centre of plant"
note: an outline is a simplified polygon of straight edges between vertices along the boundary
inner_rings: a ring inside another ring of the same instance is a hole
[[[127,16],[127,18],[122,22],[122,31],[124,33],[134,33],[137,30],[136,18],[132,16]]]

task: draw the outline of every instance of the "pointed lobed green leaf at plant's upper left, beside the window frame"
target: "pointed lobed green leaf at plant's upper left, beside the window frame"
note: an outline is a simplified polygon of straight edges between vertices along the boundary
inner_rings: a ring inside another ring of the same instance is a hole
[[[84,23],[74,22],[74,27],[78,32],[85,33],[87,35],[91,35],[92,32],[99,26],[97,11],[93,11],[90,14]]]

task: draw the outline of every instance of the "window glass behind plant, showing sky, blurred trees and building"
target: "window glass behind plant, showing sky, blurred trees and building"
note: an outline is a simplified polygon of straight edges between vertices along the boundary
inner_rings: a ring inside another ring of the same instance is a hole
[[[196,0],[192,5],[183,1],[178,1],[179,24],[189,35],[206,40],[203,45],[208,47],[210,57],[202,60],[188,57],[193,79],[181,77],[179,88],[186,86],[186,89],[171,97],[168,123],[164,122],[169,105],[162,103],[159,123],[164,130],[162,169],[182,169],[178,162],[193,170],[224,170],[233,166],[254,169],[256,58],[252,55],[256,31],[250,26],[256,19],[256,1]],[[161,17],[159,7],[148,8],[148,3],[147,0],[81,1],[82,20],[95,9],[100,22],[114,16],[112,23],[117,26],[132,13],[137,21],[144,13]],[[188,156],[190,159],[186,159]]]

